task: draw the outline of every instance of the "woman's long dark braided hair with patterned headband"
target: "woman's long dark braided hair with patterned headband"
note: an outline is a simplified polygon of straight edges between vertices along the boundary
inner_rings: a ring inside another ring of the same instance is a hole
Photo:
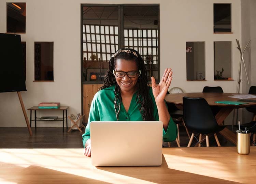
[[[149,83],[147,80],[147,70],[144,64],[142,57],[139,52],[134,49],[119,49],[116,53],[111,57],[109,61],[109,69],[104,78],[103,86],[100,87],[99,91],[112,85],[115,85],[115,97],[114,97],[114,108],[116,113],[116,120],[118,121],[119,112],[120,112],[120,104],[122,102],[122,96],[120,93],[120,87],[117,85],[115,76],[113,74],[113,70],[116,64],[117,59],[125,59],[135,61],[138,67],[138,70],[141,71],[141,75],[138,78],[138,93],[136,96],[136,103],[140,110],[141,116],[143,120],[153,121],[153,101],[149,94]]]

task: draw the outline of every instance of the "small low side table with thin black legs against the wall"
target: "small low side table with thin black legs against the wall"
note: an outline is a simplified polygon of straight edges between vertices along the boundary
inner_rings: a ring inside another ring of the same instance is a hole
[[[31,122],[35,121],[35,128],[37,128],[37,121],[62,121],[62,130],[64,132],[64,119],[66,119],[66,127],[68,129],[68,116],[67,116],[67,109],[69,108],[69,106],[60,106],[60,108],[58,109],[39,109],[38,106],[33,106],[28,108],[28,110],[30,110],[30,127],[31,127]],[[35,119],[32,120],[32,110],[34,110],[34,114],[35,114]],[[62,118],[58,118],[57,120],[40,120],[40,118],[37,118],[37,110],[62,110]],[[66,117],[64,118],[64,111],[66,111]]]

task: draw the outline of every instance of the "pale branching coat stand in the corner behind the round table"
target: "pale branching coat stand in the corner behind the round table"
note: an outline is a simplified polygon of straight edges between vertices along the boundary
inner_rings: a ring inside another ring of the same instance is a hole
[[[246,79],[247,79],[247,85],[249,86],[249,88],[251,87],[250,86],[250,82],[249,82],[249,79],[248,79],[248,75],[247,75],[247,70],[246,70],[246,66],[245,66],[245,62],[244,62],[244,57],[243,57],[243,54],[244,54],[244,51],[246,50],[247,46],[249,45],[249,43],[251,42],[251,39],[247,42],[246,46],[244,47],[243,51],[240,47],[240,44],[239,44],[239,41],[236,39],[236,42],[237,42],[237,49],[239,50],[240,52],[240,62],[239,62],[239,69],[238,69],[238,76],[237,76],[237,89],[236,89],[236,93],[240,93],[240,83],[241,83],[241,68],[242,68],[242,62],[243,62],[243,65],[244,65],[244,71],[245,71],[245,75],[246,75]],[[232,121],[232,128],[231,128],[231,132],[233,132],[233,125],[234,125],[234,117],[235,117],[235,111],[237,111],[237,119],[236,119],[236,122],[238,120],[238,109],[234,109],[233,111],[233,121]]]

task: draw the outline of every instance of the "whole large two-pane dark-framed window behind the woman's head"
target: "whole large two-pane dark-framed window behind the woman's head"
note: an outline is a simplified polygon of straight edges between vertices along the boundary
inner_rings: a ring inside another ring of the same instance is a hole
[[[119,48],[138,50],[158,81],[158,17],[158,5],[82,5],[83,81],[101,83]]]

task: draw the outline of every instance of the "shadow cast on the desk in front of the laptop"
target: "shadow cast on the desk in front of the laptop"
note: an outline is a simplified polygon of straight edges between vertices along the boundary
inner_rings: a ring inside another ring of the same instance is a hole
[[[137,178],[154,183],[238,183],[229,180],[223,180],[208,177],[200,174],[184,172],[175,169],[169,169],[165,157],[162,157],[161,166],[138,166],[138,167],[97,167],[97,169],[113,172],[128,177]]]

